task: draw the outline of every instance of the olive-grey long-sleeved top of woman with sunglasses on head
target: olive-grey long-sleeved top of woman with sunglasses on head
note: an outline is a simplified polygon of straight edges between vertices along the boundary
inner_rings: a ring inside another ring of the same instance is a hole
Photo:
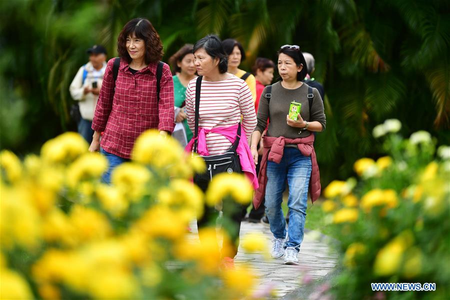
[[[325,129],[326,119],[323,111],[323,101],[316,88],[312,88],[314,97],[312,100],[311,115],[309,115],[309,102],[307,98],[308,85],[306,83],[303,83],[295,89],[284,88],[281,85],[281,81],[272,84],[270,102],[267,102],[266,93],[267,87],[264,88],[259,98],[257,111],[258,123],[254,129],[255,131],[264,131],[267,118],[269,118],[267,136],[298,138],[311,134],[309,130],[300,130],[301,128],[287,125],[286,115],[289,112],[290,102],[292,101],[301,103],[300,115],[305,121],[318,121],[322,124],[322,130]]]

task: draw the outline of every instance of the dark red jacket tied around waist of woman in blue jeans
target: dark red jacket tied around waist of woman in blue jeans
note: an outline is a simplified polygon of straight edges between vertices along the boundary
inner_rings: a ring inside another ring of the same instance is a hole
[[[259,187],[255,190],[253,205],[257,209],[265,195],[265,185],[267,183],[267,159],[279,163],[283,156],[285,144],[296,144],[301,154],[311,157],[311,177],[309,178],[309,194],[311,201],[314,202],[320,195],[320,173],[314,150],[314,134],[302,138],[285,138],[264,136],[262,140],[263,153],[261,165],[259,166],[258,183]]]

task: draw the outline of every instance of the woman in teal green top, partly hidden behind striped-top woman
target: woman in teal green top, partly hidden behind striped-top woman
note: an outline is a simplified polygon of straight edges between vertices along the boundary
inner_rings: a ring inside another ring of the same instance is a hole
[[[180,141],[181,145],[185,146],[192,138],[192,131],[189,129],[186,120],[186,114],[183,108],[180,108],[185,99],[185,92],[187,83],[195,78],[195,66],[193,63],[192,44],[185,44],[175,54],[169,58],[170,68],[173,75],[173,95],[175,98],[175,122],[182,123],[186,133],[186,140],[184,137],[177,134],[173,136]],[[176,129],[176,128],[175,128]],[[175,132],[174,132],[175,133]]]

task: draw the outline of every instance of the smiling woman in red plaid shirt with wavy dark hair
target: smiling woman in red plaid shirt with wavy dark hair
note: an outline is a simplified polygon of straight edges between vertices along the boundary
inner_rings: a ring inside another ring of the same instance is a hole
[[[144,130],[157,128],[161,134],[174,127],[173,79],[164,63],[159,101],[156,96],[156,66],[162,57],[159,35],[145,18],[130,20],[117,38],[120,66],[114,84],[112,65],[107,63],[98,96],[89,151],[106,156],[109,168],[103,180],[118,164],[129,160],[134,141]],[[114,91],[115,88],[115,91]],[[100,132],[104,131],[100,143]],[[101,148],[100,148],[101,146]]]

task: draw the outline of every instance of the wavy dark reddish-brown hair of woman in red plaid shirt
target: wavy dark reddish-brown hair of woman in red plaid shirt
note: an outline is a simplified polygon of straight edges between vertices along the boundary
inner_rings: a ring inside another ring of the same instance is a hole
[[[134,35],[137,38],[141,38],[145,43],[145,63],[157,62],[161,60],[162,43],[159,38],[159,34],[154,29],[149,20],[143,17],[133,18],[123,26],[117,37],[117,52],[120,57],[124,58],[128,63],[131,62],[131,56],[129,56],[126,50],[126,38],[129,35]]]

